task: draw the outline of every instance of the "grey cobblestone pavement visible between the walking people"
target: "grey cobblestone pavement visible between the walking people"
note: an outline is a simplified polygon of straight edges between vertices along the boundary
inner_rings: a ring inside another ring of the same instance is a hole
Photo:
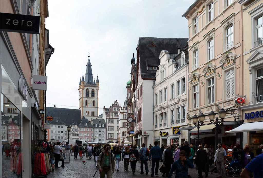
[[[82,161],[87,161],[87,163],[85,164],[85,166],[87,166],[87,168],[82,168],[83,164]],[[60,162],[61,164],[61,162]],[[148,161],[148,165],[149,165],[149,161]],[[159,164],[159,166],[161,165],[161,162]],[[97,168],[94,164],[94,159],[87,159],[86,156],[83,156],[83,159],[74,159],[74,155],[70,156],[70,163],[65,162],[65,168],[54,168],[54,172],[51,172],[50,175],[48,175],[48,178],[79,178],[79,177],[93,177],[93,175],[95,174]],[[132,178],[137,178],[137,177],[148,177],[150,178],[151,175],[151,166],[149,167],[149,174],[145,175],[145,167],[144,167],[144,174],[140,174],[140,162],[137,162],[136,164],[136,171],[135,171],[135,175],[132,174],[131,168],[130,168],[130,164],[129,164],[129,170],[128,171],[124,171],[124,165],[123,165],[123,161],[120,161],[120,167],[119,167],[119,171],[117,172],[116,170],[116,165],[115,165],[115,172],[113,173],[113,177],[132,177]],[[196,167],[196,166],[195,166]],[[196,170],[196,168],[193,169],[189,169],[188,173],[191,175],[191,177],[198,177],[198,170]],[[213,169],[212,166],[209,167],[210,170]],[[213,173],[213,175],[208,172],[208,177],[217,177],[218,174],[217,173]],[[99,177],[99,171],[97,171],[96,175],[94,177]],[[107,176],[106,176],[107,177]],[[160,171],[158,171],[158,176],[154,177],[162,177],[162,173]],[[172,177],[175,177],[175,174],[173,174]],[[203,173],[203,177],[205,177],[205,174]],[[227,177],[232,177],[232,176],[227,176]],[[237,176],[238,177],[238,176]]]

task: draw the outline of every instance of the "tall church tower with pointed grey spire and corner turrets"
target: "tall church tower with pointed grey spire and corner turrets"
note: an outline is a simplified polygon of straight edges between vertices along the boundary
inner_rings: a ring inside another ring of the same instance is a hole
[[[99,78],[93,80],[90,60],[87,63],[85,79],[79,81],[79,109],[81,116],[91,121],[99,115]]]

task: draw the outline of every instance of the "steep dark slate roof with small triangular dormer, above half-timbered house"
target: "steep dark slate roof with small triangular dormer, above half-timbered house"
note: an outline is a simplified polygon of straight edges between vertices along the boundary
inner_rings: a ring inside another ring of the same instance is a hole
[[[178,49],[183,50],[188,44],[188,38],[151,38],[140,37],[137,48],[139,48],[141,77],[156,78],[156,71],[147,70],[148,66],[158,66],[160,64],[159,55],[162,50],[167,50],[171,54],[178,54]],[[153,42],[155,47],[150,47]]]

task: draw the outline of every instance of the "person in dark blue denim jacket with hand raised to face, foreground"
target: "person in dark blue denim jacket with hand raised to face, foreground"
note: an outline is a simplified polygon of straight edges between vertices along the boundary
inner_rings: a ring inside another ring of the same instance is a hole
[[[175,177],[189,177],[188,167],[193,169],[194,165],[191,163],[189,159],[186,159],[185,155],[186,155],[186,151],[179,152],[179,159],[174,161],[168,177],[171,177],[174,171],[176,172]]]

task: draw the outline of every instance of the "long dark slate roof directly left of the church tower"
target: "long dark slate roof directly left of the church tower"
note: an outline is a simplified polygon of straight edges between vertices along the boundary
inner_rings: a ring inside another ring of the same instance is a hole
[[[47,116],[51,115],[53,118],[59,117],[65,123],[65,125],[71,125],[73,122],[74,124],[81,122],[80,109],[46,107],[46,112]],[[49,122],[50,121],[47,120],[47,123]]]

